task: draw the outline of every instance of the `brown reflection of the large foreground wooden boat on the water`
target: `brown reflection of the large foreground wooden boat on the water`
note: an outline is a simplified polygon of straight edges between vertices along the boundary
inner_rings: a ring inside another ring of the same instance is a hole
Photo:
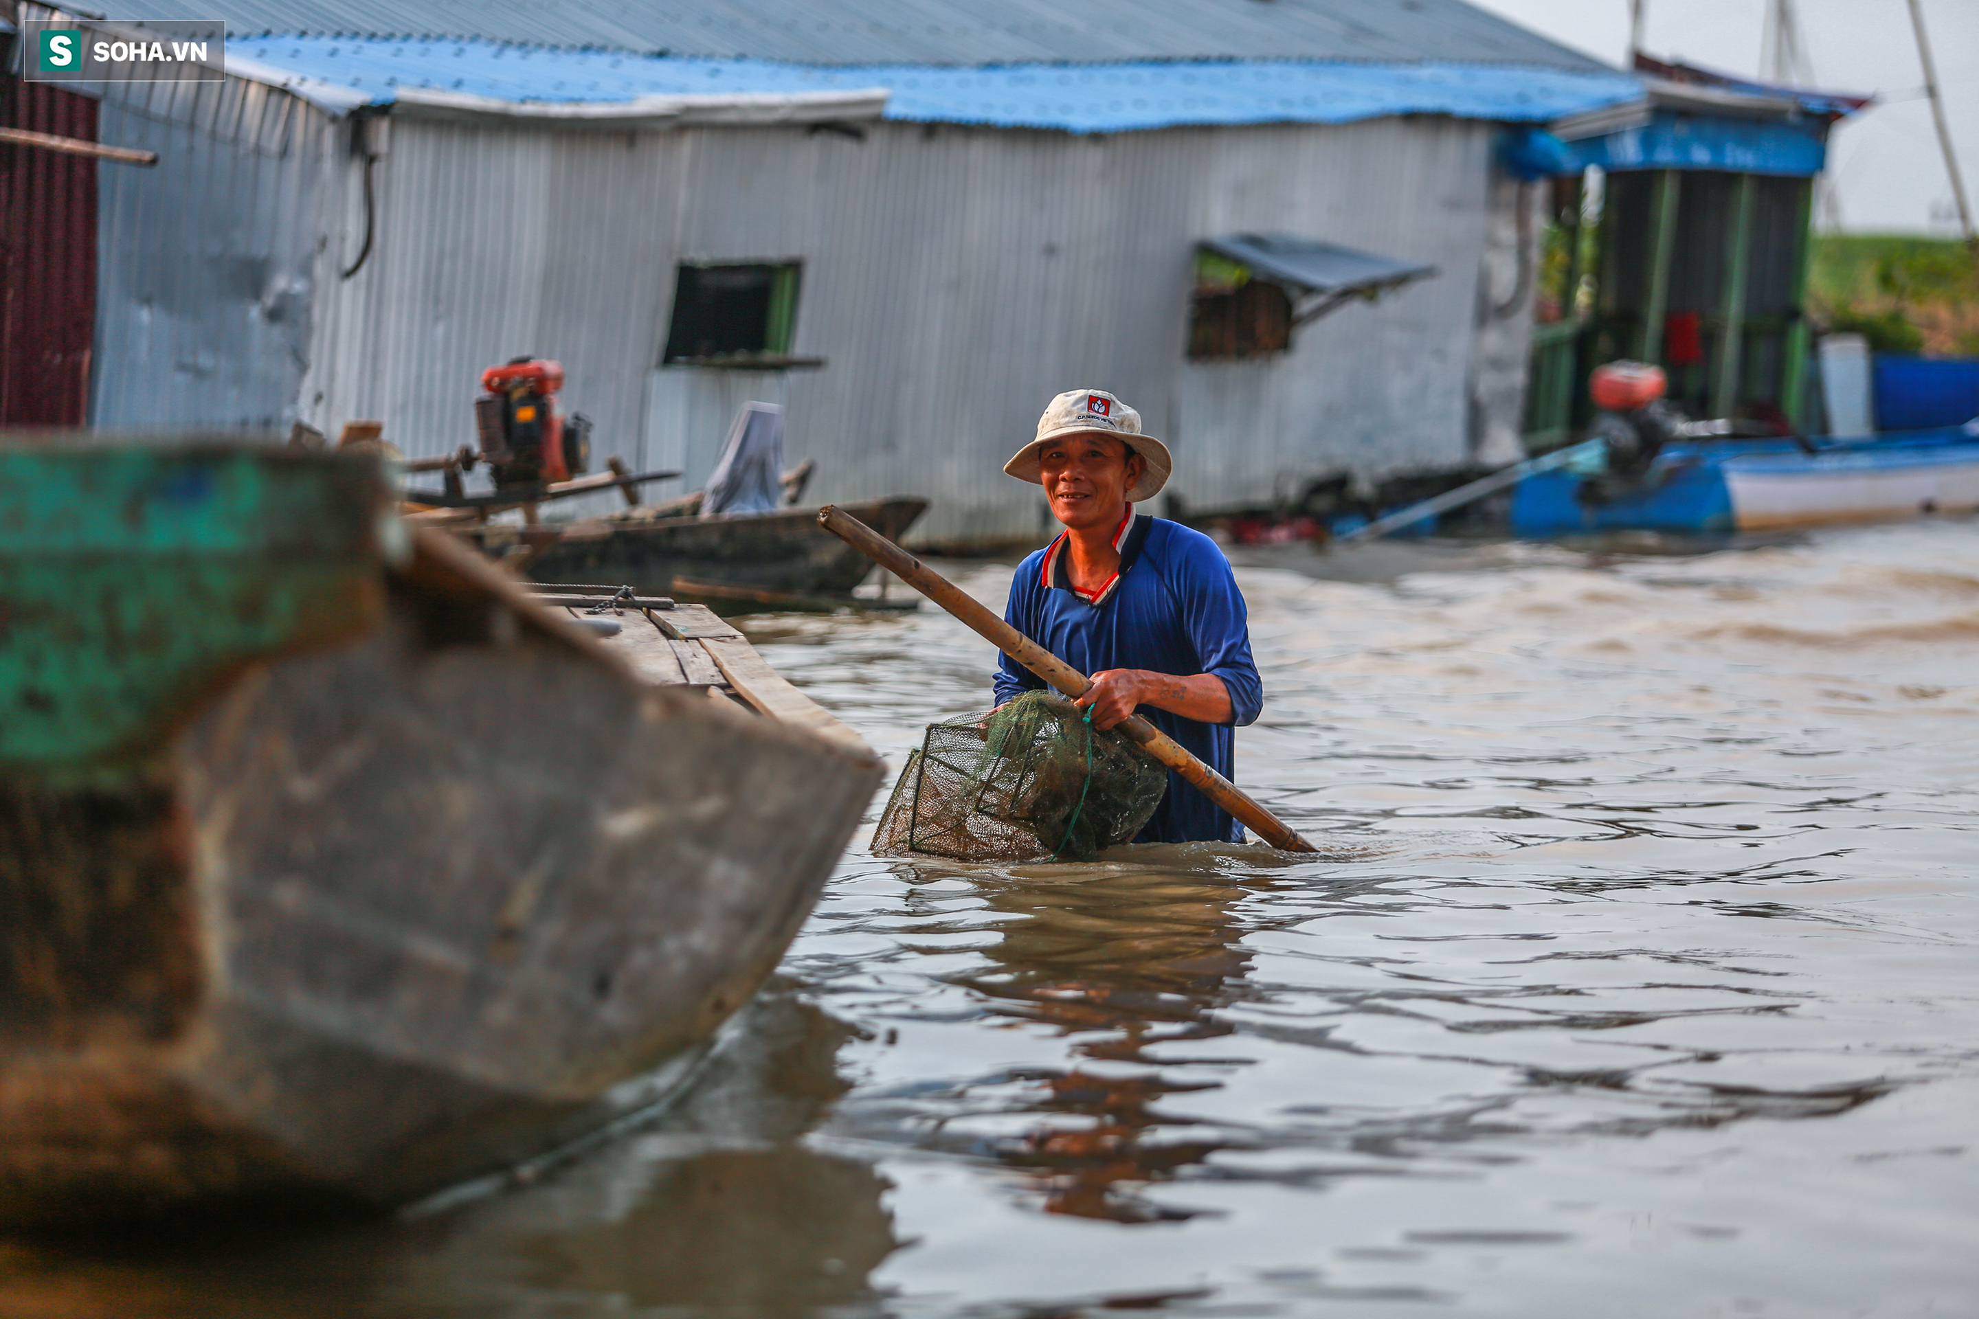
[[[412,1220],[186,1222],[0,1246],[0,1315],[849,1313],[898,1248],[869,1159],[807,1147],[853,1028],[772,983],[663,1119]]]

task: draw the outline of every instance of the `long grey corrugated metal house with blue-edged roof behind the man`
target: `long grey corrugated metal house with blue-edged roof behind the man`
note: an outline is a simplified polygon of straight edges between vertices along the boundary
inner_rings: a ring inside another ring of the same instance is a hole
[[[158,162],[0,146],[73,271],[63,384],[0,372],[0,423],[362,417],[439,455],[540,354],[600,457],[691,486],[782,403],[813,496],[926,494],[950,546],[1039,534],[999,469],[1081,384],[1195,510],[1516,457],[1544,188],[1506,146],[1643,101],[1459,0],[146,14],[226,18],[226,77],[10,75],[8,123]],[[4,308],[0,346],[46,310]]]

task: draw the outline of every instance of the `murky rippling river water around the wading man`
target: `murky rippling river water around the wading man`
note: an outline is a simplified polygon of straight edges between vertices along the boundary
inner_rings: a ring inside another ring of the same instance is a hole
[[[1239,779],[1320,858],[855,848],[655,1125],[0,1248],[0,1313],[1979,1315],[1979,524],[1239,581]],[[895,765],[986,702],[936,613],[748,627]]]

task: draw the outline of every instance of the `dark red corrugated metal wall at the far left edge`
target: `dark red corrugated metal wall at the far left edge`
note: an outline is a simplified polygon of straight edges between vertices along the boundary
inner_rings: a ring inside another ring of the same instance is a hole
[[[97,103],[0,75],[0,125],[97,140]],[[83,425],[97,318],[97,162],[0,144],[0,425]]]

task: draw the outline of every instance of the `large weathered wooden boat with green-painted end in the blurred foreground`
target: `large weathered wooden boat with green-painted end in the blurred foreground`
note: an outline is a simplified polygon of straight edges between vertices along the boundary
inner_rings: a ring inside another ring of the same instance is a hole
[[[657,1098],[857,827],[881,761],[738,635],[653,684],[386,500],[0,447],[0,1224],[554,1149]]]

